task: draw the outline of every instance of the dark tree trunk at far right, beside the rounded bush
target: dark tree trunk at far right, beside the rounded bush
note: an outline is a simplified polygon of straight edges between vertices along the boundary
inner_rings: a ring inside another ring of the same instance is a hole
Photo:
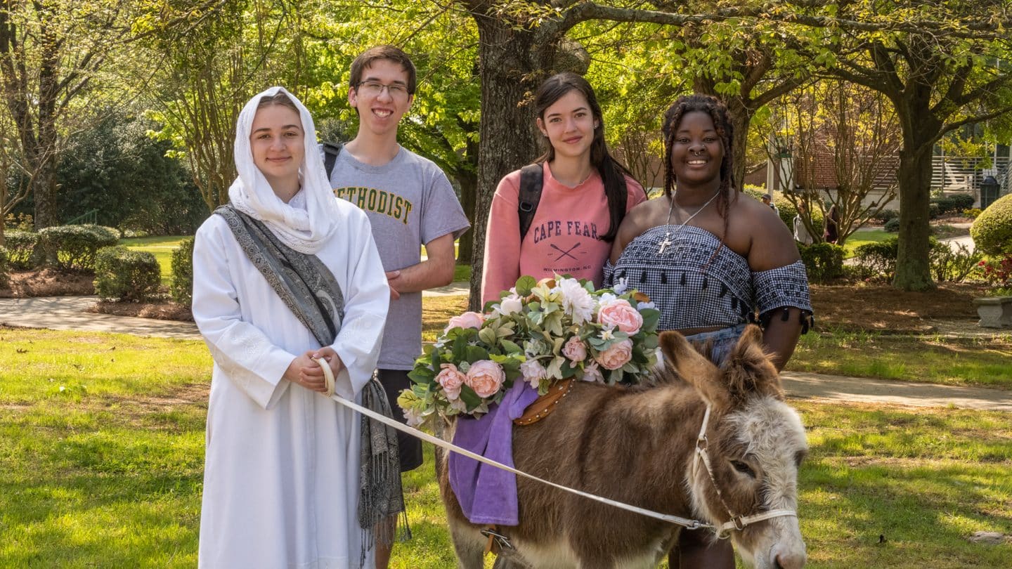
[[[928,260],[931,235],[931,145],[904,142],[900,151],[900,250],[893,286],[904,291],[927,291],[935,287]],[[918,149],[910,150],[910,149]]]

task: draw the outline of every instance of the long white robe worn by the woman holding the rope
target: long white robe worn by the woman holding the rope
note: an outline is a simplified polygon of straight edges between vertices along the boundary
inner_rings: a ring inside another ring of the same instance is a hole
[[[317,256],[345,301],[332,344],[345,365],[335,398],[355,399],[378,356],[390,290],[365,214],[339,206],[339,229]],[[359,417],[281,379],[298,354],[319,343],[221,216],[196,233],[193,317],[215,358],[199,565],[358,567]]]

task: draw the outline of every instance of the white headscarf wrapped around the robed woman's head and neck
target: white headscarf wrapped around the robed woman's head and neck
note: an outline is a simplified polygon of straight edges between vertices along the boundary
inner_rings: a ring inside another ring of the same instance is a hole
[[[250,132],[253,115],[262,97],[284,93],[299,108],[303,121],[304,153],[299,169],[306,210],[282,201],[270,187],[263,172],[253,163]],[[229,199],[240,212],[262,221],[285,245],[307,254],[315,254],[337,229],[338,208],[323,159],[317,148],[316,127],[306,106],[283,87],[271,87],[257,94],[239,113],[236,123],[236,170],[239,177],[229,187]]]

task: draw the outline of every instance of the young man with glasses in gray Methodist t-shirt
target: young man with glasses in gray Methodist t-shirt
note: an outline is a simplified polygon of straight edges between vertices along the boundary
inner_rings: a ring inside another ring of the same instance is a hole
[[[442,170],[397,142],[415,93],[408,56],[391,46],[372,48],[351,64],[350,83],[358,134],[337,156],[330,181],[334,195],[365,211],[387,271],[391,304],[376,367],[394,415],[404,420],[397,396],[410,389],[408,372],[422,351],[422,291],[453,280],[453,242],[470,223]],[[401,472],[421,466],[421,441],[400,431],[398,441]],[[377,541],[376,567],[389,559]]]

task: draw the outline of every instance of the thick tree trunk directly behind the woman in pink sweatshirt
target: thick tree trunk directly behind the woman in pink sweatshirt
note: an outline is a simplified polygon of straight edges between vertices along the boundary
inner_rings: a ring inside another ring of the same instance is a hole
[[[470,310],[480,310],[485,227],[499,180],[537,156],[534,116],[527,101],[541,80],[535,71],[551,67],[554,45],[536,32],[491,17],[484,2],[470,2],[478,24],[482,77],[481,148],[475,192]],[[494,253],[493,253],[494,254]]]

